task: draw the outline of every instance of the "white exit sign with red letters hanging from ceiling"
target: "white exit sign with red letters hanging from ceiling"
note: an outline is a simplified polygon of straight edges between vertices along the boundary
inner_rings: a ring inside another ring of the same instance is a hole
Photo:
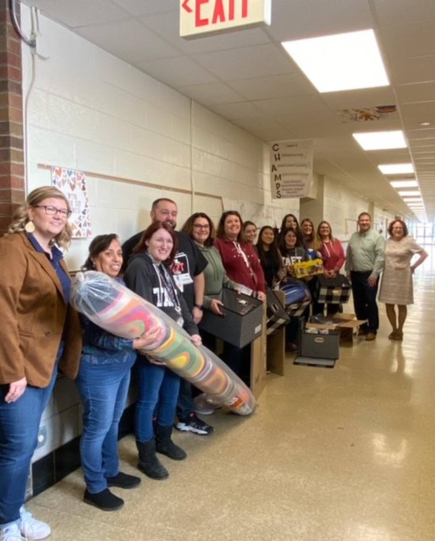
[[[270,24],[271,0],[180,0],[180,36],[195,38]]]

